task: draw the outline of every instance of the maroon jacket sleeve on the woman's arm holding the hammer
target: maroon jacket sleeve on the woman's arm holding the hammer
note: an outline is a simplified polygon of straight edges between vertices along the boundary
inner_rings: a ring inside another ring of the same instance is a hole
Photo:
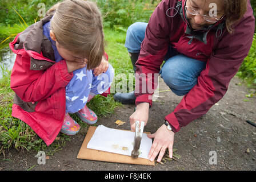
[[[170,7],[175,7],[175,1],[161,1],[147,24],[145,39],[135,63],[136,105],[141,102],[152,105],[152,95],[158,83],[157,74],[169,48],[171,18],[166,15],[166,11]]]

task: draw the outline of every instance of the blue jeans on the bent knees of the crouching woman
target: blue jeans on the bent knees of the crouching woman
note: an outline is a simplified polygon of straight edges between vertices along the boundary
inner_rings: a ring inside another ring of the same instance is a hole
[[[138,53],[141,51],[146,27],[147,23],[137,22],[128,28],[125,41],[128,52]],[[173,93],[184,96],[197,84],[197,78],[205,66],[206,62],[191,59],[169,47],[165,63],[159,74]]]

